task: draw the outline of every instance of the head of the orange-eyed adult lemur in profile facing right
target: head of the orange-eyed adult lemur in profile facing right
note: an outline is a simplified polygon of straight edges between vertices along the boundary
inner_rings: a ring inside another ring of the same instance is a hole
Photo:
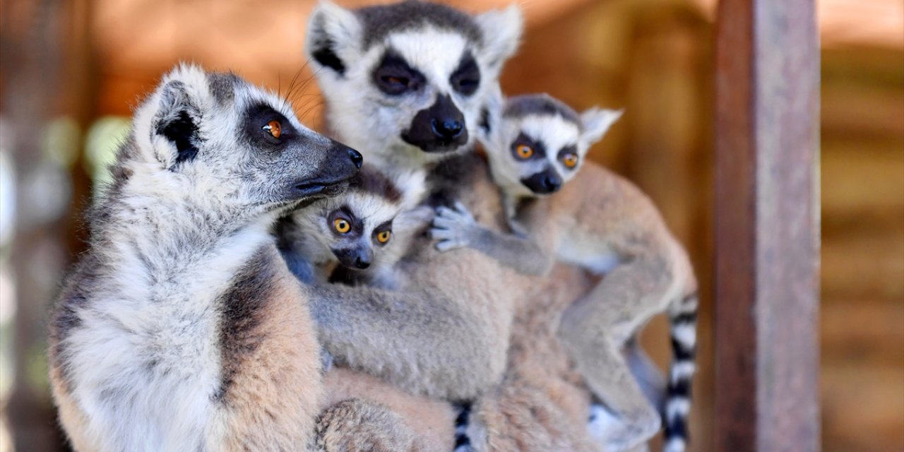
[[[182,65],[138,108],[119,189],[203,202],[239,218],[340,193],[362,156],[301,125],[282,99]]]

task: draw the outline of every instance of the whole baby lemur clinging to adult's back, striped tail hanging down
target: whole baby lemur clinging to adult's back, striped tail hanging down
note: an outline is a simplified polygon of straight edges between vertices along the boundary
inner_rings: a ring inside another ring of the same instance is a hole
[[[606,430],[600,436],[617,449],[650,438],[660,425],[658,410],[619,349],[650,317],[668,311],[675,354],[665,441],[668,450],[683,450],[697,306],[690,262],[633,184],[595,165],[579,173],[589,146],[621,112],[591,108],[578,114],[547,95],[504,104],[494,99],[488,101],[481,141],[513,232],[485,229],[463,205],[439,207],[431,229],[437,249],[480,250],[525,274],[545,275],[559,259],[607,275],[566,311],[560,337],[590,390],[615,414],[610,421],[622,424],[599,419],[598,427]],[[587,202],[588,193],[596,202]]]

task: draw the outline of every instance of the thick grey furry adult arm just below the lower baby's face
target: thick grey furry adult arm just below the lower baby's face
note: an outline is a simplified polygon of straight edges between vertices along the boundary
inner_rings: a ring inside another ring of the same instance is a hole
[[[474,294],[447,294],[455,285],[438,281],[433,286],[411,286],[407,291],[337,284],[308,287],[321,344],[336,363],[405,391],[447,400],[473,399],[504,370],[507,328],[496,325],[493,315],[467,308],[477,297]]]

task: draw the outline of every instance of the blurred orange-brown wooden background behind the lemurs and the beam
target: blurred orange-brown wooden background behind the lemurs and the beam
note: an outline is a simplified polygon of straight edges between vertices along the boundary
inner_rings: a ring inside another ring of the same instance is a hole
[[[471,11],[507,4],[447,3]],[[712,450],[715,2],[519,3],[528,30],[504,72],[506,92],[546,91],[575,108],[626,108],[592,158],[649,193],[691,250],[703,290],[692,449]],[[95,169],[103,156],[97,153],[112,148],[108,136],[122,132],[122,121],[115,118],[127,117],[160,74],[180,60],[235,70],[283,92],[297,74],[298,80],[309,80],[302,46],[313,5],[313,0],[0,0],[0,149],[13,162],[4,165],[14,168],[20,182],[15,234],[0,249],[5,275],[0,353],[6,353],[0,366],[7,369],[0,372],[0,400],[7,431],[13,432],[12,437],[0,432],[0,450],[13,443],[16,450],[61,447],[42,368],[43,319],[61,269],[81,250],[80,211],[92,177],[99,177]],[[904,3],[825,0],[819,13],[823,447],[899,451],[904,449]],[[308,123],[319,124],[315,83],[297,96],[295,107]],[[54,198],[53,193],[62,194]],[[54,210],[48,202],[60,205]],[[11,212],[11,204],[0,210]],[[663,364],[665,337],[662,320],[644,337]]]

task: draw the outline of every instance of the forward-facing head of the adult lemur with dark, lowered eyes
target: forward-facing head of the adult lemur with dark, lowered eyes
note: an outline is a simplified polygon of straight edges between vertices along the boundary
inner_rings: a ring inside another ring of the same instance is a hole
[[[419,1],[353,11],[322,1],[306,54],[337,137],[369,159],[417,166],[470,148],[521,29],[514,5],[471,16]]]

